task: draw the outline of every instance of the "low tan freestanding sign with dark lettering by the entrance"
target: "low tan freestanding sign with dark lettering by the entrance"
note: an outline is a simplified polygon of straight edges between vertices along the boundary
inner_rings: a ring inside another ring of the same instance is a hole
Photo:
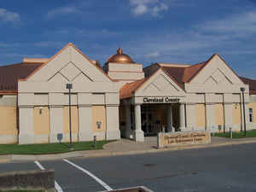
[[[211,143],[210,131],[160,132],[157,137],[158,148],[201,143]]]

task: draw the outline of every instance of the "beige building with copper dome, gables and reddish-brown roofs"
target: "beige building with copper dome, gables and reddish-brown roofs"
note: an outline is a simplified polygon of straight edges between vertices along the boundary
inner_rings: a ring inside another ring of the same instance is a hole
[[[103,67],[73,44],[50,59],[0,67],[0,143],[143,142],[158,131],[235,131],[256,125],[256,81],[239,77],[218,55],[195,65],[143,68],[122,49]]]

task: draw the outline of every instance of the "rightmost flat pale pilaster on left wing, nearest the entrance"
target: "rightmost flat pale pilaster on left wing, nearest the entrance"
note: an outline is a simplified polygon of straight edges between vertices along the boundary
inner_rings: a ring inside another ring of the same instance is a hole
[[[106,116],[107,116],[107,140],[117,140],[120,139],[119,130],[119,106],[110,105],[106,106]]]

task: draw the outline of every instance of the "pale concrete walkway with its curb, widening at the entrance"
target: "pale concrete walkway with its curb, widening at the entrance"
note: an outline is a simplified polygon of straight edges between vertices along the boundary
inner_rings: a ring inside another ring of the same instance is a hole
[[[102,157],[112,155],[125,155],[125,154],[145,154],[145,153],[157,153],[163,151],[182,150],[189,148],[212,148],[226,145],[236,145],[242,143],[256,143],[256,138],[242,138],[242,139],[230,139],[224,137],[212,137],[212,143],[200,144],[200,145],[183,145],[170,148],[156,148],[156,137],[145,137],[145,142],[136,143],[128,139],[121,139],[119,141],[108,143],[103,146],[102,150],[87,150],[87,151],[73,151],[66,154],[43,154],[43,155],[0,155],[0,163],[6,163],[10,161],[22,161],[22,160],[60,160],[64,158],[73,157]]]

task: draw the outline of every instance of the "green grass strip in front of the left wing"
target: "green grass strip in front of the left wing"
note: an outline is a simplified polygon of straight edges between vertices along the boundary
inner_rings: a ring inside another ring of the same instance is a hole
[[[102,149],[103,145],[111,141],[73,143],[73,150],[69,149],[69,143],[45,143],[45,144],[0,144],[0,154],[60,154],[70,151]]]

